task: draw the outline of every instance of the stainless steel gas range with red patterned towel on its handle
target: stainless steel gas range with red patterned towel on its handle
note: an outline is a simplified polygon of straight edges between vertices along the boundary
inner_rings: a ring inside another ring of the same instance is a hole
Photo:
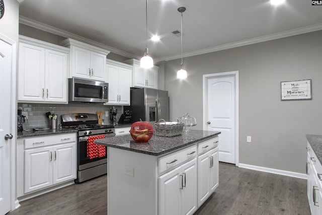
[[[91,143],[89,143],[88,140],[102,138],[104,135],[105,137],[115,136],[115,129],[113,125],[99,125],[97,123],[98,116],[92,113],[71,113],[61,115],[61,125],[63,128],[73,128],[78,131],[76,146],[76,183],[81,183],[91,178],[107,174],[107,147],[101,148],[99,156],[93,156],[93,154],[89,155],[89,151],[93,150],[93,145],[90,145]],[[96,154],[98,155],[98,153]]]

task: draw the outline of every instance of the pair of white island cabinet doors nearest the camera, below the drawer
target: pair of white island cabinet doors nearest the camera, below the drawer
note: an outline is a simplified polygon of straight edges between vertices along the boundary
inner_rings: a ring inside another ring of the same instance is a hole
[[[193,214],[197,209],[197,159],[158,178],[159,215]]]

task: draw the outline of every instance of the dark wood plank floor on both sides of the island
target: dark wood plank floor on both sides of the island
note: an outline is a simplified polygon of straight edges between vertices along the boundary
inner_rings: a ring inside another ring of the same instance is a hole
[[[20,202],[8,215],[106,214],[106,184],[105,175],[70,185]],[[220,163],[218,188],[195,212],[210,214],[310,214],[306,180]]]

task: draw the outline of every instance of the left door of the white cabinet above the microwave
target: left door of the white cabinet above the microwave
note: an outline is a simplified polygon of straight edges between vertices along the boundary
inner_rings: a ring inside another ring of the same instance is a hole
[[[90,79],[91,69],[91,51],[71,47],[71,76],[76,78]]]

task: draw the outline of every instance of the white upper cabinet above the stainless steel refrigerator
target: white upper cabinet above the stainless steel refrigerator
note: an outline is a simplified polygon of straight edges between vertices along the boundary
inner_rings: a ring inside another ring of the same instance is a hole
[[[129,59],[124,62],[133,65],[133,87],[157,89],[158,66],[142,68],[140,66],[140,61],[137,59]]]

